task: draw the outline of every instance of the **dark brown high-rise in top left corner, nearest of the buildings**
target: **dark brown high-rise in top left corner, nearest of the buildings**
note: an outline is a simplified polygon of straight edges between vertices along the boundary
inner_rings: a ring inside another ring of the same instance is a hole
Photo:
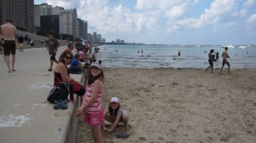
[[[34,32],[34,0],[0,0],[0,24],[12,20],[17,28]]]

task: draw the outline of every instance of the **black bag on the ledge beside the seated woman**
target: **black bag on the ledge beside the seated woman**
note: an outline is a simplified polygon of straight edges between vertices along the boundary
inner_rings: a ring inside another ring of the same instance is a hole
[[[66,82],[58,83],[49,92],[49,96],[48,96],[47,100],[50,103],[55,103],[55,100],[67,100],[68,94],[73,92],[72,89],[73,88],[70,85],[70,83],[66,83]],[[73,100],[72,94],[70,96],[70,99]]]

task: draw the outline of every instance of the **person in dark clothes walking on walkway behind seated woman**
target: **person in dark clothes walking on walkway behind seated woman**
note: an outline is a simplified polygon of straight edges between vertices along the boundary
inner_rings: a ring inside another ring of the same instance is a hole
[[[56,60],[55,55],[56,55],[57,50],[59,48],[59,43],[55,39],[54,35],[51,34],[51,33],[49,34],[49,39],[46,40],[45,43],[46,43],[45,47],[46,47],[46,49],[48,49],[49,55],[50,55],[50,58],[49,58],[49,60],[50,60],[49,64],[50,65],[49,65],[49,70],[48,71],[51,72],[52,71],[53,62],[55,61],[55,63],[58,64],[58,61]]]

